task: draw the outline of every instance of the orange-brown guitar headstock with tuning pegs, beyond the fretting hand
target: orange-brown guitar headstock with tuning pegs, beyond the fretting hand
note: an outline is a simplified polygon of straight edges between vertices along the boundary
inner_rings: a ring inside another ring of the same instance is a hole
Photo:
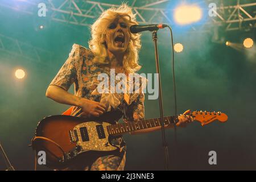
[[[221,111],[193,111],[190,115],[194,120],[200,122],[202,126],[208,125],[215,120],[220,122],[226,122],[228,120],[228,115],[221,113]]]

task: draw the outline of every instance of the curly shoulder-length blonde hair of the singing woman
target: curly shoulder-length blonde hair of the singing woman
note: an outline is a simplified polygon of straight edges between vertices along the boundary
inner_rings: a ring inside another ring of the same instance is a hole
[[[89,48],[96,56],[95,63],[108,64],[108,51],[105,46],[106,29],[113,20],[123,18],[127,27],[138,24],[130,6],[123,3],[121,6],[105,10],[91,27],[92,39],[89,41]],[[131,34],[130,42],[123,57],[123,68],[127,73],[134,73],[141,69],[138,64],[138,52],[141,49],[141,34]]]

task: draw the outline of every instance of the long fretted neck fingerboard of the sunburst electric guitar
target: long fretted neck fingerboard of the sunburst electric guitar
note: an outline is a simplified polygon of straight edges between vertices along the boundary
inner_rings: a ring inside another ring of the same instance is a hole
[[[174,117],[164,117],[164,125],[174,123]],[[147,119],[137,122],[119,123],[117,125],[107,126],[109,135],[121,135],[131,131],[148,129],[151,127],[161,126],[161,118]]]

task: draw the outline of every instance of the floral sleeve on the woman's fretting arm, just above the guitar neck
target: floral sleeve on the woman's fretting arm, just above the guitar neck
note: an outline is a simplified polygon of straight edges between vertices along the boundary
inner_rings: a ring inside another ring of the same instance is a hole
[[[144,93],[139,93],[135,101],[128,106],[126,116],[123,118],[126,121],[144,120]]]

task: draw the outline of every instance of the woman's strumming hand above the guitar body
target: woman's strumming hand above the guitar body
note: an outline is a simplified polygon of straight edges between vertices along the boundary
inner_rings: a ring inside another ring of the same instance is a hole
[[[80,99],[79,106],[82,109],[81,115],[84,117],[99,117],[101,114],[106,112],[106,106],[100,102],[91,101],[86,98]]]

